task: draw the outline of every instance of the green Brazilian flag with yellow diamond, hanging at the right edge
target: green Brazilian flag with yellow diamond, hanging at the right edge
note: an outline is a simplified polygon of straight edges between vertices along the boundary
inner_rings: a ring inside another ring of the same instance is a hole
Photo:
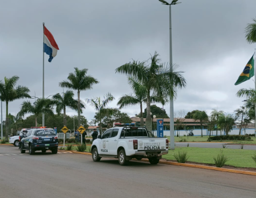
[[[240,74],[240,76],[237,79],[237,82],[234,85],[239,85],[254,76],[253,56],[251,57],[250,61],[248,61],[248,63],[245,65],[244,71],[242,72],[242,74]]]

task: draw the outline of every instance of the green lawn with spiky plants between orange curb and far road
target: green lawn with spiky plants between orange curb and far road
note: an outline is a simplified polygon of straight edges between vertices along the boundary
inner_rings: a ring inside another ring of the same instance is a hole
[[[163,158],[176,160],[174,158],[174,153],[178,153],[178,151],[186,151],[188,152],[189,162],[214,164],[213,157],[217,157],[220,150],[223,150],[223,154],[230,158],[226,165],[256,168],[256,162],[252,159],[252,156],[256,154],[256,151],[244,149],[206,149],[184,147],[169,150],[168,155],[164,155]]]

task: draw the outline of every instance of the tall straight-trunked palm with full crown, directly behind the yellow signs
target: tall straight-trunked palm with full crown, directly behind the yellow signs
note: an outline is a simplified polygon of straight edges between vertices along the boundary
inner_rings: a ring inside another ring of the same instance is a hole
[[[61,87],[67,87],[69,89],[77,90],[78,94],[78,125],[81,125],[80,113],[81,113],[81,104],[80,104],[80,91],[82,90],[91,90],[94,84],[98,84],[98,80],[96,80],[91,75],[87,75],[88,69],[79,70],[78,68],[74,68],[74,73],[70,73],[67,77],[67,80],[59,83]]]

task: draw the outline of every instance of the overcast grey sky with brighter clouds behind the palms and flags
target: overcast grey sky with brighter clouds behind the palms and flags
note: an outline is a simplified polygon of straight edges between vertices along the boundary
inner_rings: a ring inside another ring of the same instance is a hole
[[[234,83],[256,48],[244,33],[256,17],[256,1],[181,2],[172,6],[172,54],[187,86],[178,91],[175,111],[210,114],[218,108],[233,113],[243,105],[237,91],[254,87],[253,79]],[[81,99],[111,92],[115,100],[109,106],[116,107],[123,94],[132,92],[126,76],[115,74],[117,67],[132,59],[147,60],[155,51],[169,62],[169,8],[158,0],[0,0],[0,80],[19,76],[18,84],[29,87],[31,96],[42,96],[43,22],[60,49],[51,63],[45,55],[45,97],[63,92],[59,82],[74,67],[87,68],[100,83],[82,91]],[[17,114],[22,101],[10,102],[9,113]],[[164,108],[169,114],[169,105]],[[122,111],[134,116],[140,108]],[[67,114],[76,113],[67,109]],[[94,114],[87,105],[82,115],[90,121]]]

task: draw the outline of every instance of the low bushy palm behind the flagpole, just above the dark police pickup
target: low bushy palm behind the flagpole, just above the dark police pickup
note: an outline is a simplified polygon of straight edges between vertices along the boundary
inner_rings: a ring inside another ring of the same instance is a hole
[[[26,113],[32,113],[35,115],[35,124],[37,127],[37,117],[39,114],[44,113],[48,115],[54,115],[52,106],[54,102],[50,99],[39,98],[34,101],[33,105],[30,101],[24,101],[22,107],[18,113],[19,118],[22,118]]]

